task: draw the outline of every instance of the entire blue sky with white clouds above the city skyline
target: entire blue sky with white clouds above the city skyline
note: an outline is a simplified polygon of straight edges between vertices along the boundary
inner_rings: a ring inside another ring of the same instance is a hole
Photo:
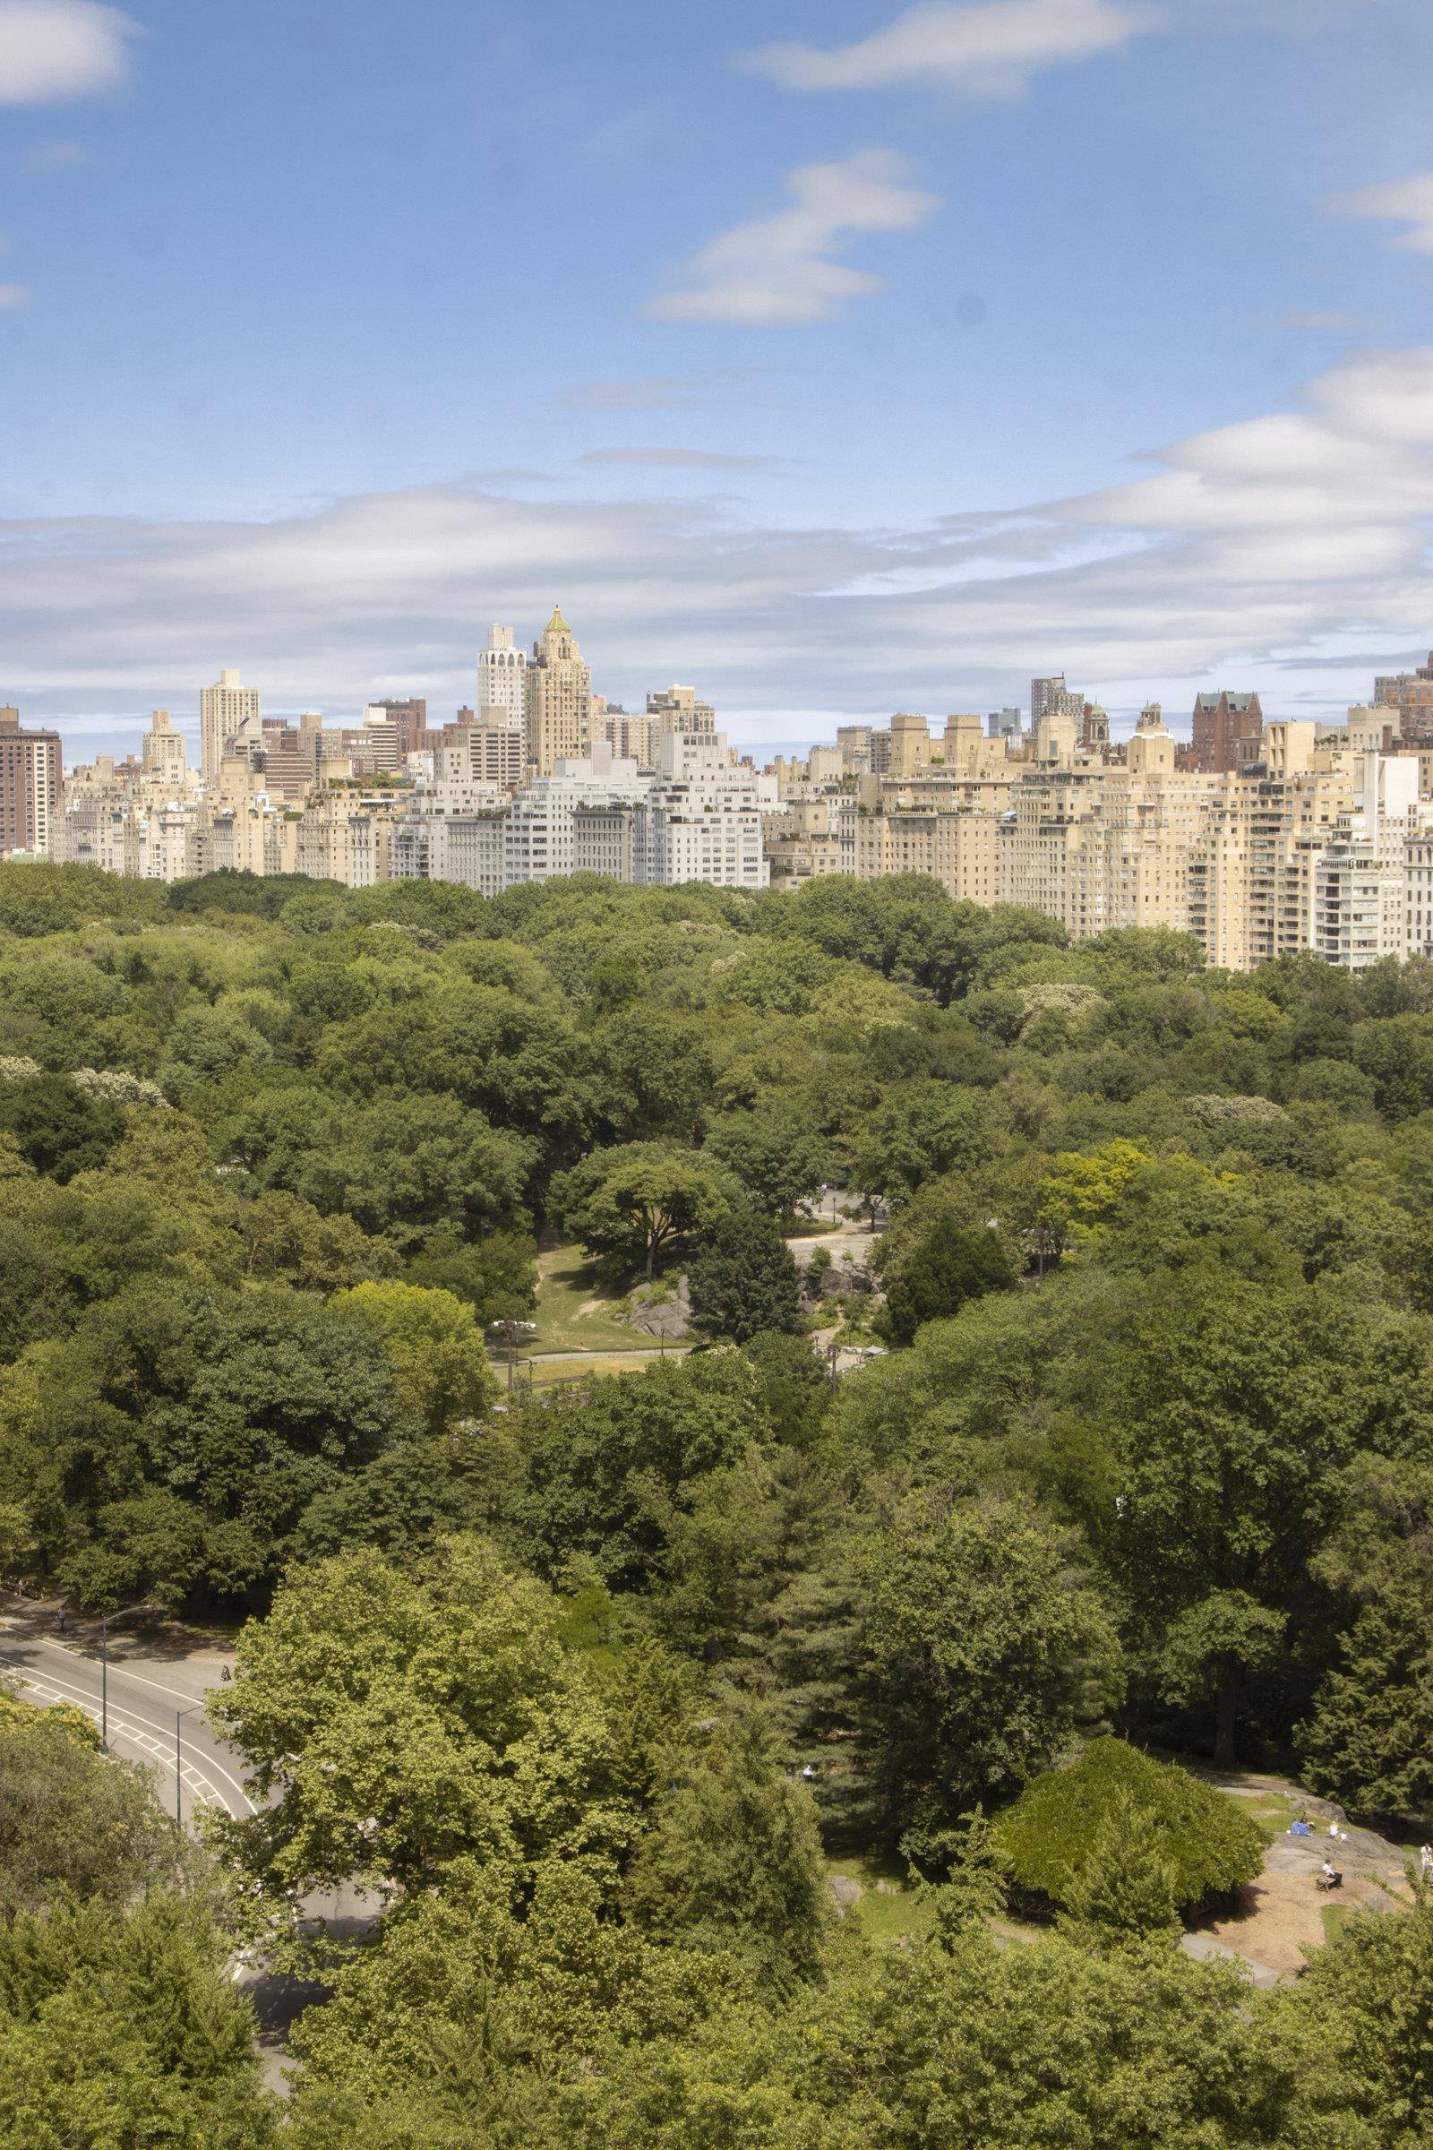
[[[0,699],[748,744],[1433,641],[1427,0],[0,0]]]

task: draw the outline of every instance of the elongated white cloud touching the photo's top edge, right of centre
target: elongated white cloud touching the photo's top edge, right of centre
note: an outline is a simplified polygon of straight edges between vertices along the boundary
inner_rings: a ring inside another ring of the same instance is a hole
[[[928,0],[855,45],[767,45],[748,60],[788,90],[881,90],[898,84],[1014,97],[1044,67],[1115,52],[1158,17],[1121,0]]]

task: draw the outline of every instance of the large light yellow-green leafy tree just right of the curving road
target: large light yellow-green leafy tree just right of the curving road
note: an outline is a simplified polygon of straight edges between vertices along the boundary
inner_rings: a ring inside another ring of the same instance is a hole
[[[208,1709],[260,1802],[221,1840],[275,1898],[412,1890],[462,1858],[518,1883],[533,1860],[612,1851],[632,1830],[548,1591],[481,1539],[447,1539],[417,1576],[370,1550],[303,1570],[243,1630]]]

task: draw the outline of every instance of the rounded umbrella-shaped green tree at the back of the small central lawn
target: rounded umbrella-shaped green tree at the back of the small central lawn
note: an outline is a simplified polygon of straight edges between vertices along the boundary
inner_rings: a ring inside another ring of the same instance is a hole
[[[709,1234],[730,1210],[726,1174],[668,1142],[597,1150],[552,1182],[567,1232],[593,1253],[642,1264],[651,1284],[668,1256]]]

